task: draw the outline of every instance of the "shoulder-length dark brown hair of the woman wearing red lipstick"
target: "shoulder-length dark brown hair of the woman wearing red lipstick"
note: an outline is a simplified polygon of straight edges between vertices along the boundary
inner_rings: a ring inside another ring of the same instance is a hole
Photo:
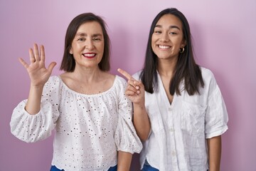
[[[63,61],[61,62],[60,70],[73,72],[75,70],[75,58],[70,54],[70,48],[78,28],[86,22],[96,21],[102,28],[104,37],[104,52],[102,60],[100,61],[99,68],[101,71],[110,71],[110,38],[107,34],[105,21],[92,13],[84,13],[76,16],[69,24],[65,34],[65,47],[63,54]]]

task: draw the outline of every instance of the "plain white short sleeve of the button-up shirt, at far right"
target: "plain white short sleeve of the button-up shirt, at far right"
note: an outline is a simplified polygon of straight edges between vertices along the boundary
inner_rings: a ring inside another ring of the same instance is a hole
[[[208,104],[206,108],[206,138],[222,135],[228,130],[228,112],[225,107],[220,88],[215,81],[213,73],[208,71],[210,77]]]

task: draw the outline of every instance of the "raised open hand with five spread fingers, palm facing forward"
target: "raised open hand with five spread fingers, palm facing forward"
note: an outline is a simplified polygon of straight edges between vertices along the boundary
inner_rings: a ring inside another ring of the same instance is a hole
[[[41,45],[40,51],[38,51],[36,43],[33,45],[33,49],[29,48],[29,56],[31,62],[29,65],[23,60],[23,58],[18,58],[18,60],[28,71],[28,75],[31,79],[31,86],[42,87],[48,81],[56,63],[52,62],[48,68],[46,68],[44,47]]]

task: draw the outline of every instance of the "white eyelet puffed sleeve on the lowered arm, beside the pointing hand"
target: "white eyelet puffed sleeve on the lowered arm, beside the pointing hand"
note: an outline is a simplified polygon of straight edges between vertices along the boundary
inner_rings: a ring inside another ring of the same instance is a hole
[[[114,140],[118,151],[133,154],[142,150],[142,142],[132,123],[132,102],[124,95],[126,84],[123,78],[119,78],[118,123]]]

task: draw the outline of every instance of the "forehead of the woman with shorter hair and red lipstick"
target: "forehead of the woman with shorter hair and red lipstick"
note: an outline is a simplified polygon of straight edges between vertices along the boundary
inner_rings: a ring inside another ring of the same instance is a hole
[[[88,21],[80,25],[77,33],[102,34],[102,27],[97,21]]]

